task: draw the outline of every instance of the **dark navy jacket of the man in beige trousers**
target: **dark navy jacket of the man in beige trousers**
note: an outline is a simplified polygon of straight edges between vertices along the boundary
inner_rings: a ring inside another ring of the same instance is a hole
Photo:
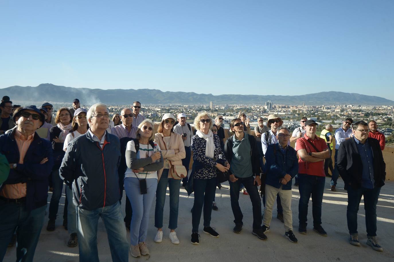
[[[286,174],[292,178],[298,174],[297,152],[294,148],[287,146],[285,154],[279,149],[279,144],[271,144],[265,154],[266,164],[264,170],[267,172],[266,185],[280,188],[282,183],[279,182]],[[292,180],[282,186],[283,190],[292,189]]]

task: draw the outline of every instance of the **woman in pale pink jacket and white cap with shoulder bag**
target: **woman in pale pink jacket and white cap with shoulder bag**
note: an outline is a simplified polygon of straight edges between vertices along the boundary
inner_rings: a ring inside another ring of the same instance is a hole
[[[154,212],[154,226],[157,227],[157,233],[154,238],[154,242],[156,243],[160,243],[163,240],[163,210],[165,192],[167,191],[168,185],[170,189],[169,238],[173,244],[179,244],[175,229],[178,226],[180,179],[172,178],[171,174],[169,174],[169,169],[171,165],[182,165],[182,159],[185,158],[186,152],[181,135],[173,131],[174,124],[174,115],[169,113],[164,114],[162,123],[158,126],[154,138],[155,143],[162,150],[164,159],[164,168],[157,171],[158,185],[156,190],[156,209]]]

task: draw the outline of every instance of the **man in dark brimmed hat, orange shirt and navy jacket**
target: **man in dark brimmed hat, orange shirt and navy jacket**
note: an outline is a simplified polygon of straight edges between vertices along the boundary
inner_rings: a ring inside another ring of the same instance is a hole
[[[0,261],[15,230],[17,261],[33,261],[44,224],[52,145],[35,132],[45,122],[36,106],[20,109],[13,119],[18,127],[0,136],[0,152],[11,168],[0,188]]]

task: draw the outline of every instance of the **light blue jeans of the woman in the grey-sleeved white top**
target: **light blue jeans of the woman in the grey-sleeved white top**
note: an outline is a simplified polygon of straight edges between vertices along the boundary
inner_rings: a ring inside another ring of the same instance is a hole
[[[151,212],[154,194],[157,189],[157,179],[148,178],[147,193],[141,194],[138,178],[125,178],[125,191],[133,209],[130,224],[130,244],[136,246],[145,242],[148,233],[149,213]]]

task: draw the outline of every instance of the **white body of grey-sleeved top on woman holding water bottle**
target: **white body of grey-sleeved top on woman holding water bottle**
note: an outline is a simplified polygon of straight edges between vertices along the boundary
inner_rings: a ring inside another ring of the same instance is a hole
[[[126,151],[130,150],[133,152],[136,152],[136,145],[134,144],[134,141],[128,141],[127,142],[127,146],[126,146]],[[139,144],[139,150],[137,152],[137,159],[141,159],[141,158],[149,158],[152,154],[154,154],[155,152],[160,151],[160,147],[158,144],[154,143],[154,148],[151,147],[150,144],[148,145],[143,145],[143,144]],[[127,168],[126,172],[125,172],[125,178],[136,178],[138,177],[139,179],[144,179],[146,176],[146,178],[156,178],[157,179],[157,171],[143,171],[143,172],[139,172],[138,174],[134,173],[133,170]]]

